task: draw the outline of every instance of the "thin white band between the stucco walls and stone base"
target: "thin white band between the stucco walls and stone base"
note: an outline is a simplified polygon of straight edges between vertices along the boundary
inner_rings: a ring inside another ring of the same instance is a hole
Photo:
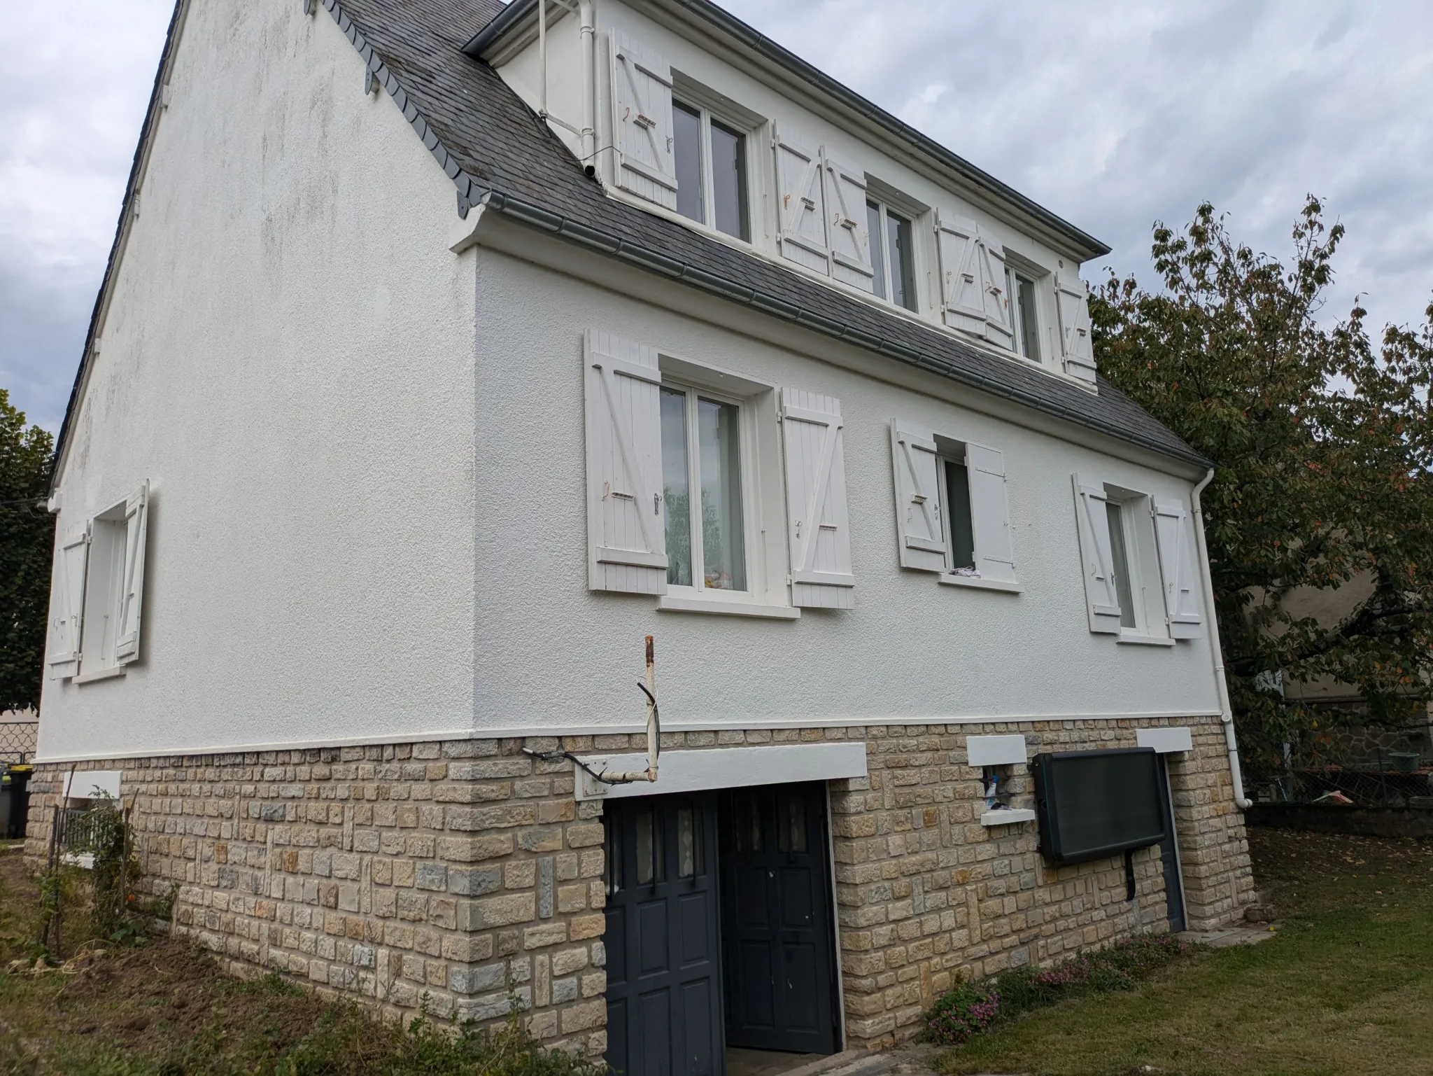
[[[974,714],[964,717],[940,714],[884,714],[880,717],[858,717],[854,714],[833,714],[821,722],[810,717],[732,717],[727,720],[662,722],[663,732],[721,732],[724,729],[884,729],[891,725],[1035,725],[1036,722],[1155,722],[1161,719],[1198,720],[1218,717],[1217,710],[1146,710],[1139,713],[1017,713],[1017,714]],[[492,729],[440,729],[390,736],[344,736],[322,740],[267,740],[221,746],[186,747],[143,747],[123,752],[92,752],[89,755],[40,755],[36,765],[62,762],[95,762],[97,759],[152,759],[176,756],[211,755],[255,755],[271,750],[317,750],[320,747],[367,747],[387,743],[431,743],[433,740],[507,740],[507,739],[555,739],[559,736],[629,736],[646,732],[645,725],[632,722],[612,725],[555,725],[547,729],[524,726]],[[643,762],[643,766],[646,763]]]

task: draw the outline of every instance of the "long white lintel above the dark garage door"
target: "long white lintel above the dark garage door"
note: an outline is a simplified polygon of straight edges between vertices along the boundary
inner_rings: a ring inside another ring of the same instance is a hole
[[[588,766],[613,772],[639,770],[645,755],[583,756]],[[844,743],[774,743],[761,747],[712,747],[663,750],[658,759],[655,782],[602,785],[573,766],[577,799],[628,799],[659,796],[666,792],[702,792],[749,785],[785,785],[794,780],[838,780],[866,776],[866,745]]]

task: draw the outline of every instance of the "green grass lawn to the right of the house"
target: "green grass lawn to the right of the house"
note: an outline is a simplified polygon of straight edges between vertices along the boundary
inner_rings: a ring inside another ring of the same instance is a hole
[[[1277,937],[997,1026],[939,1070],[1433,1073],[1433,842],[1251,829],[1250,845]]]

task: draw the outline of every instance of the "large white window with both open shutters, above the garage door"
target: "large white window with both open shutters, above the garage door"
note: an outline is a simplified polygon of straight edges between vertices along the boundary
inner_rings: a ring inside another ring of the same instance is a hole
[[[588,587],[674,613],[851,608],[840,400],[589,330]]]

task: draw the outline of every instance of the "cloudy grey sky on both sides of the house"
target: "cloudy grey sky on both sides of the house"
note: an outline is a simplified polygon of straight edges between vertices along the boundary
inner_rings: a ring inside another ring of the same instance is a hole
[[[282,0],[297,3],[298,0]],[[0,387],[54,430],[115,234],[172,0],[6,4]],[[1305,192],[1348,228],[1330,317],[1433,293],[1427,0],[727,0],[1154,284],[1155,220],[1199,199],[1283,254]]]

